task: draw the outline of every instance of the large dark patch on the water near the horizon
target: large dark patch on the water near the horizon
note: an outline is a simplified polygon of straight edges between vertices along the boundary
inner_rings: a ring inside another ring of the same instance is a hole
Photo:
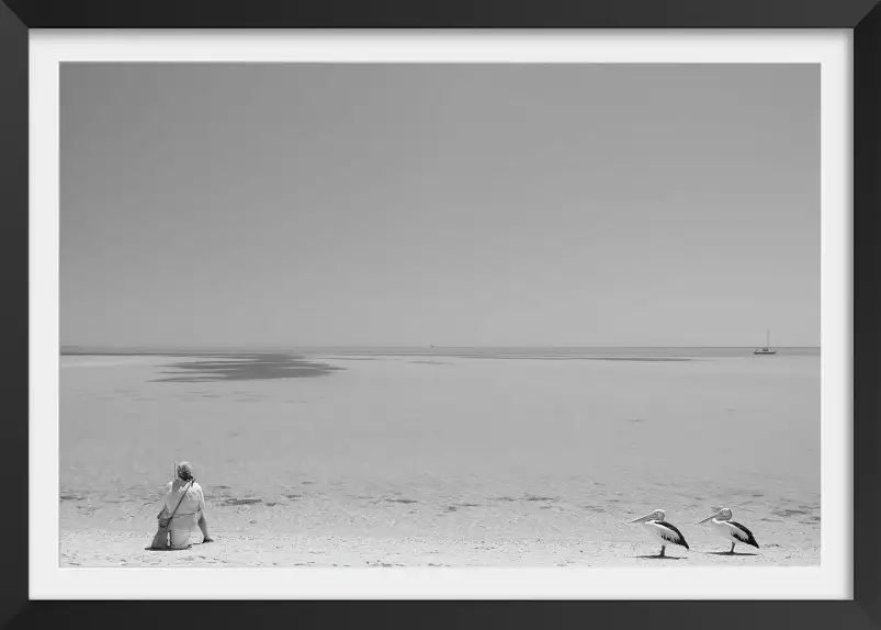
[[[184,355],[185,356],[185,355]],[[195,355],[193,357],[202,357]],[[218,361],[217,358],[235,359]],[[327,363],[316,363],[291,355],[233,355],[229,357],[212,357],[201,361],[187,361],[161,365],[178,370],[162,372],[170,374],[165,379],[155,379],[157,383],[211,383],[216,381],[264,381],[271,379],[302,379],[324,376],[345,370]],[[245,402],[245,401],[237,401]],[[250,402],[250,401],[249,401]]]

